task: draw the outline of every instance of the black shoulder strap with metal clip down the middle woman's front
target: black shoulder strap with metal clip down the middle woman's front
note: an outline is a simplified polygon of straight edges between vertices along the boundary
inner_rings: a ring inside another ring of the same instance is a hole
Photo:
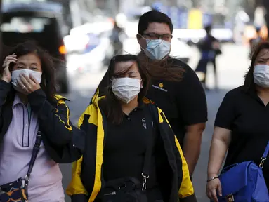
[[[146,123],[146,130],[148,132],[148,146],[147,149],[145,151],[145,160],[144,160],[144,166],[143,166],[143,172],[142,172],[142,176],[143,176],[143,187],[142,190],[145,191],[147,189],[147,179],[150,177],[150,161],[151,161],[151,157],[152,157],[152,149],[154,146],[154,138],[153,138],[153,134],[152,134],[152,117],[154,117],[154,114],[152,113],[152,109],[151,107],[153,107],[152,105],[147,105],[147,109],[145,112],[145,123]],[[155,118],[153,118],[155,119]],[[154,121],[155,122],[155,121]]]

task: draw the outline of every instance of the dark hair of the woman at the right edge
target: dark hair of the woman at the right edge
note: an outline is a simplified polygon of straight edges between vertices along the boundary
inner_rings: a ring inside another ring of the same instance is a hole
[[[258,54],[261,52],[263,49],[268,49],[269,50],[269,42],[268,41],[262,41],[261,43],[254,48],[254,51],[251,53],[250,58],[251,58],[251,65],[249,67],[249,70],[247,71],[247,74],[244,76],[244,87],[246,90],[249,90],[250,88],[254,87],[254,64],[256,61],[256,58],[258,57]]]

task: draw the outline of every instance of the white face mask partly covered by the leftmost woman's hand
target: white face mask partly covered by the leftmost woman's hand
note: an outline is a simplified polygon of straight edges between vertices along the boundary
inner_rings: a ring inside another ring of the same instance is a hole
[[[20,93],[25,93],[25,90],[22,90],[22,88],[20,88],[20,86],[18,85],[18,80],[20,79],[21,74],[25,74],[26,76],[30,76],[30,74],[32,74],[32,76],[34,76],[34,79],[36,79],[37,82],[41,82],[41,72],[36,72],[30,69],[20,69],[11,72],[11,83],[13,85],[13,88]]]

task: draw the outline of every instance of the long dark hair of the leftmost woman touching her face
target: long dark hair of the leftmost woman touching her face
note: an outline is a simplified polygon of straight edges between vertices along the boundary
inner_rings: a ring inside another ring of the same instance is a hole
[[[17,55],[17,58],[20,58],[20,56],[27,55],[30,53],[36,54],[39,59],[41,60],[41,68],[42,68],[42,76],[41,76],[41,89],[44,90],[44,93],[46,93],[46,97],[48,101],[55,102],[54,96],[56,93],[55,88],[55,69],[53,65],[53,59],[51,58],[51,55],[49,55],[45,50],[40,48],[36,45],[33,41],[26,41],[24,43],[19,43],[14,48],[9,48],[10,51],[6,53],[5,57],[8,55],[12,55],[15,53]],[[6,51],[7,52],[7,51]],[[3,58],[3,59],[4,59]],[[14,67],[14,64],[10,65],[10,71],[12,71]],[[1,69],[1,72],[3,72],[3,69]],[[11,91],[11,93],[8,94],[7,102],[13,102],[14,98],[14,90]]]

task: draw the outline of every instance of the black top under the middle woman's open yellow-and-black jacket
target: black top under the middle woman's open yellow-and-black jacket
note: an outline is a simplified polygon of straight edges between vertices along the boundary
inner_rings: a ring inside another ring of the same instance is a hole
[[[147,130],[145,113],[150,113],[146,105],[142,104],[129,114],[124,115],[120,125],[107,120],[107,137],[104,147],[103,175],[106,181],[122,177],[136,177],[143,182],[142,172],[145,159],[145,151],[149,145],[149,136],[156,143],[159,138],[156,121],[150,120],[150,130]],[[152,117],[152,116],[146,116]],[[151,133],[151,134],[149,134]],[[155,147],[152,152],[150,164],[150,178],[147,180],[147,188],[157,186]]]

